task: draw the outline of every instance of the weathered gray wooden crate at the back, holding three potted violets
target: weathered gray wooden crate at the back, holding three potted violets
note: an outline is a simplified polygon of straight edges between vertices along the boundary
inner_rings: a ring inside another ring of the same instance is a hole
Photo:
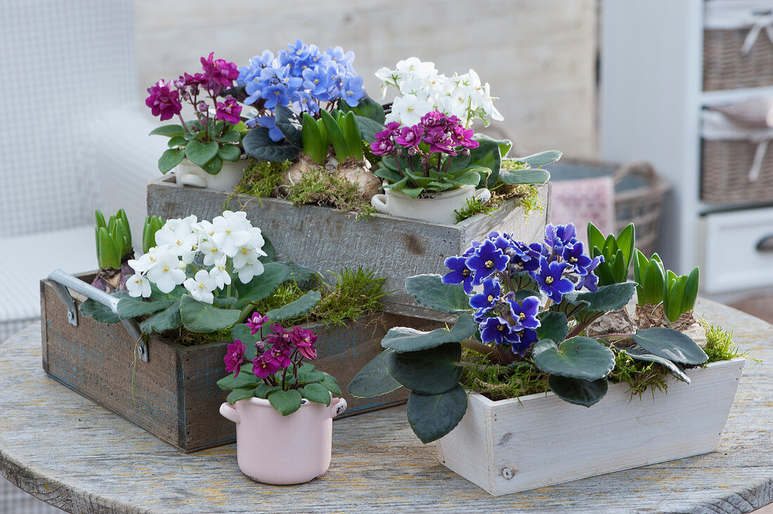
[[[386,277],[386,291],[394,291],[383,299],[387,312],[447,320],[448,316],[418,305],[405,291],[405,279],[444,274],[446,257],[461,254],[471,241],[485,238],[492,230],[512,233],[526,242],[540,240],[550,219],[550,184],[540,186],[539,197],[543,209],[529,216],[523,206],[511,201],[492,216],[478,214],[455,225],[386,214],[356,220],[353,213],[329,207],[293,206],[286,200],[246,195],[229,198],[225,192],[179,186],[171,175],[148,183],[148,215],[167,220],[195,214],[199,220],[212,220],[226,207],[244,210],[247,219],[274,243],[279,260],[295,260],[322,272],[373,268]]]

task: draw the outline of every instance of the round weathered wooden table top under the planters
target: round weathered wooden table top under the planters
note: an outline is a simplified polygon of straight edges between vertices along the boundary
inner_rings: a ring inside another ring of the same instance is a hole
[[[495,497],[441,465],[392,407],[336,420],[322,477],[263,485],[241,474],[235,444],[179,453],[50,379],[36,324],[0,345],[0,475],[68,512],[751,512],[773,502],[773,326],[709,301],[696,310],[765,361],[744,369],[711,454]]]

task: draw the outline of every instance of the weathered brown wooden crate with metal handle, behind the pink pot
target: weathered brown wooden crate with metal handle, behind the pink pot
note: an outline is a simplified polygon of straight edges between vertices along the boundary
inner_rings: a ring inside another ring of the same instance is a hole
[[[85,300],[73,292],[77,305]],[[198,451],[233,442],[236,429],[217,413],[227,392],[216,386],[226,375],[223,356],[230,341],[199,346],[148,342],[150,359],[135,362],[135,342],[123,325],[104,325],[66,308],[49,281],[41,281],[43,369],[55,380],[107,407],[179,448]],[[346,386],[382,350],[386,331],[398,325],[438,328],[438,322],[400,315],[371,315],[343,325],[307,324],[318,335],[315,366],[339,380],[349,404],[342,416],[380,409],[407,399],[397,390],[383,397],[355,398]]]

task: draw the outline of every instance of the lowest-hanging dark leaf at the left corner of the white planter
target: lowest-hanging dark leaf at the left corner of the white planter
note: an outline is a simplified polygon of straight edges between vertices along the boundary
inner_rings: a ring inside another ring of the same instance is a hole
[[[457,385],[448,393],[427,396],[411,391],[408,423],[421,442],[431,443],[454,430],[467,412],[467,394]]]

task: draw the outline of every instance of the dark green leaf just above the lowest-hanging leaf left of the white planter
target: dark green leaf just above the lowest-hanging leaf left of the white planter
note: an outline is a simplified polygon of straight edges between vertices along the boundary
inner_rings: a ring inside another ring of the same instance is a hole
[[[397,382],[416,393],[440,394],[454,389],[461,379],[461,345],[447,342],[420,352],[391,352],[384,364]]]

